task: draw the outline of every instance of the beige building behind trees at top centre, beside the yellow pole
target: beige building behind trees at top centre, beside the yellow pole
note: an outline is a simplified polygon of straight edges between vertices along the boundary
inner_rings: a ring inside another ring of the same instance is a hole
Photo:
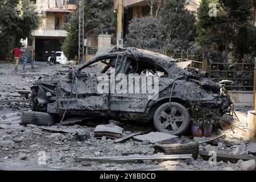
[[[189,10],[196,11],[201,0],[187,0]],[[114,0],[114,11],[118,13],[119,0]],[[156,13],[157,7],[153,9],[153,14]],[[140,18],[150,13],[150,6],[147,0],[123,0],[123,38],[127,34],[128,25],[131,19]]]

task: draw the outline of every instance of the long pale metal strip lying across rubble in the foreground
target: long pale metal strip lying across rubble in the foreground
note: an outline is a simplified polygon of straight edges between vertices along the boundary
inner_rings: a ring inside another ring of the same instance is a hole
[[[192,154],[183,155],[137,155],[137,156],[103,156],[103,157],[78,157],[72,155],[75,162],[98,161],[98,162],[134,162],[137,160],[181,160],[191,159]]]

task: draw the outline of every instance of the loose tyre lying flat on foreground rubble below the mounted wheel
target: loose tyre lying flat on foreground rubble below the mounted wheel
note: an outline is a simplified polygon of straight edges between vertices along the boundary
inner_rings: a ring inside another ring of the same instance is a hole
[[[196,159],[199,155],[199,143],[155,144],[155,152],[163,152],[167,155],[192,154],[192,157]]]

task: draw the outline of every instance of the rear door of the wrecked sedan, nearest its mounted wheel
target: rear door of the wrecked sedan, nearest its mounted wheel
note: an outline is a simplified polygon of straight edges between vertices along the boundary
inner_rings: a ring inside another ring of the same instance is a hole
[[[138,68],[133,68],[136,65]],[[169,88],[174,82],[167,75],[159,75],[167,72],[152,72],[155,68],[156,65],[148,60],[139,60],[137,63],[131,59],[127,61],[126,68],[122,70],[123,75],[115,77],[117,92],[110,95],[110,109],[143,113],[148,102],[157,99],[159,93]],[[121,76],[125,78],[120,79]],[[122,80],[126,80],[126,88],[123,86],[125,81],[123,84],[120,83]],[[120,85],[123,89],[119,89]]]

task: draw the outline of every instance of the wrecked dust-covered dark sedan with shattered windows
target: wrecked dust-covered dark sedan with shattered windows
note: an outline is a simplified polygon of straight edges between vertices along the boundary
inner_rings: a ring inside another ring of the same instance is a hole
[[[59,118],[65,115],[154,122],[156,130],[174,135],[184,134],[190,126],[189,103],[210,105],[222,114],[229,109],[231,101],[221,92],[220,84],[201,72],[185,71],[175,61],[142,49],[113,48],[65,76],[35,81],[31,87],[31,109]],[[122,79],[117,78],[120,74]],[[133,91],[144,88],[143,81],[138,84],[136,78],[145,78],[149,87],[158,88],[158,92],[132,92],[131,87]],[[114,84],[119,86],[118,92],[112,92]]]

